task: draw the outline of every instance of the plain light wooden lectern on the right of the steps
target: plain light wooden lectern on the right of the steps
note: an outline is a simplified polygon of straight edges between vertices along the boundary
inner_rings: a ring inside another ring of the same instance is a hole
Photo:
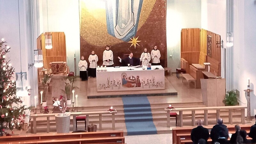
[[[202,97],[207,107],[225,106],[226,79],[201,79]]]

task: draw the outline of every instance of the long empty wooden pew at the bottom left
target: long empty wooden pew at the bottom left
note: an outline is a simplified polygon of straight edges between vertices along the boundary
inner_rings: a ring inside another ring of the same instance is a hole
[[[37,134],[0,137],[1,143],[124,143],[123,131]]]

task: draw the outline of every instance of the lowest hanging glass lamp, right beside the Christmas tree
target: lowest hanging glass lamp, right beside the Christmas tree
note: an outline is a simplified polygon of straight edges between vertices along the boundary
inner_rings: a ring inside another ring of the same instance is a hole
[[[16,95],[28,96],[27,72],[16,73]]]

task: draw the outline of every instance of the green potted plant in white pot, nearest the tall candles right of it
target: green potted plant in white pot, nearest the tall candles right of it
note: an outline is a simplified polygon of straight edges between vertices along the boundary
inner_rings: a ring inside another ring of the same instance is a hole
[[[72,90],[78,88],[76,86],[73,86],[73,83],[74,83],[74,76],[72,76],[72,77],[68,76],[68,78],[66,79],[66,82],[65,82],[65,91],[62,90],[63,92],[65,92],[66,97],[67,97],[67,105],[71,105],[70,95],[72,93]]]

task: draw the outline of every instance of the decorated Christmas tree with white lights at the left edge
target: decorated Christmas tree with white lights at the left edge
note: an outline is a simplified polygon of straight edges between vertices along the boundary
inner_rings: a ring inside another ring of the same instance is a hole
[[[25,111],[31,109],[23,105],[20,97],[16,96],[15,80],[12,80],[14,68],[10,60],[6,61],[5,56],[10,52],[11,47],[6,41],[0,42],[0,136],[6,134],[6,130],[20,130],[25,122]]]

